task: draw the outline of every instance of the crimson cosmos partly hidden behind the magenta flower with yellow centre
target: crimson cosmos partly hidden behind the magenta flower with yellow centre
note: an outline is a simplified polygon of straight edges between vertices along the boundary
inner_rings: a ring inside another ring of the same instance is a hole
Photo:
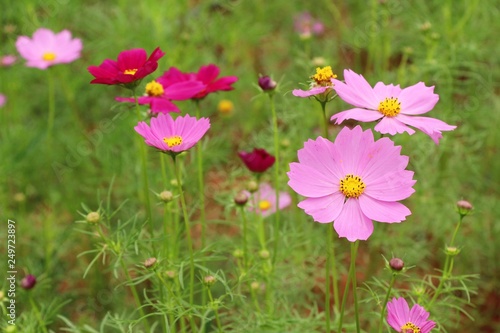
[[[166,71],[162,78],[164,82],[183,82],[183,81],[201,81],[206,85],[206,88],[196,94],[194,99],[202,99],[210,93],[221,91],[221,90],[233,90],[233,83],[238,81],[236,76],[223,76],[217,78],[220,74],[220,69],[214,64],[209,64],[207,66],[201,66],[201,68],[196,73],[183,73],[175,67],[171,67]]]

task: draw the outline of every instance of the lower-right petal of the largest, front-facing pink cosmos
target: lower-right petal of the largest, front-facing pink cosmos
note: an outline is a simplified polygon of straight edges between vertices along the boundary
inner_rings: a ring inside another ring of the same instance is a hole
[[[366,217],[377,222],[398,223],[411,215],[411,211],[399,202],[379,201],[368,195],[359,197],[359,206]]]

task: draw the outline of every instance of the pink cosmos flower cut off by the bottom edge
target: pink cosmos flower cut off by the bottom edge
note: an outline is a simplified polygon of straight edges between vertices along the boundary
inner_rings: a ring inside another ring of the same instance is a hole
[[[387,322],[401,333],[429,333],[436,323],[429,318],[429,312],[418,304],[409,308],[402,297],[393,298],[387,303]]]

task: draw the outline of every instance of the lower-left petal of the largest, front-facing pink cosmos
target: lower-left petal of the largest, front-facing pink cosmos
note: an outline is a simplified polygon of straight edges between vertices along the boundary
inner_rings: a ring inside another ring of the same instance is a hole
[[[344,195],[340,192],[319,198],[307,198],[298,204],[304,212],[319,223],[333,222],[342,211]]]

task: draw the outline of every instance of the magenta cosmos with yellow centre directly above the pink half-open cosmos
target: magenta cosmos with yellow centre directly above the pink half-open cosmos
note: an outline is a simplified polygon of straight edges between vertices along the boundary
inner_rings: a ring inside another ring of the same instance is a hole
[[[139,104],[149,105],[153,113],[180,112],[177,105],[172,103],[172,100],[191,99],[205,88],[206,85],[200,81],[172,83],[160,77],[146,85],[146,92],[144,96],[138,98],[138,102]],[[135,102],[134,98],[128,97],[117,97],[116,100],[119,102]]]

